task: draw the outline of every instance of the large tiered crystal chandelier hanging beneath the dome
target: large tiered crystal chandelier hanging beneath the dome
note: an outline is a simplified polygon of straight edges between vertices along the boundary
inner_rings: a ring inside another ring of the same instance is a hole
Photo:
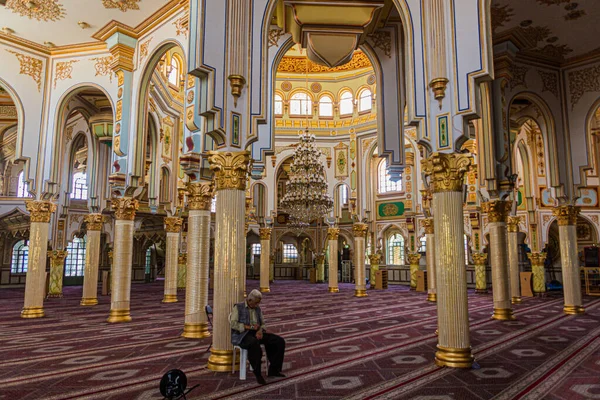
[[[333,208],[320,156],[315,137],[307,129],[300,135],[294,151],[290,179],[286,182],[286,193],[281,201],[281,208],[290,215],[292,225],[307,227]]]

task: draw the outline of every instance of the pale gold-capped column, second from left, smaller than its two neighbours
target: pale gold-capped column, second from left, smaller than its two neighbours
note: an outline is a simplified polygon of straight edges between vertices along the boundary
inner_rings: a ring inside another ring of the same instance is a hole
[[[102,214],[88,214],[84,221],[87,227],[85,244],[85,269],[83,271],[82,306],[98,304],[98,264],[100,263],[100,234],[104,217]]]

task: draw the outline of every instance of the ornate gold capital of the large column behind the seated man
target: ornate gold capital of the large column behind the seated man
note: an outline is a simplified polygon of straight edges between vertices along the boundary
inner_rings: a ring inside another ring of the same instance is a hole
[[[217,190],[246,190],[246,177],[250,164],[250,152],[209,151],[208,162],[215,173]]]

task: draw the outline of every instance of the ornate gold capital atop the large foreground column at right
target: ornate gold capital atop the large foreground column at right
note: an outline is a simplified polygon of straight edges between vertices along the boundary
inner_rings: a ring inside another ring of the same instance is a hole
[[[431,177],[433,193],[461,192],[471,156],[458,153],[433,153],[421,161],[425,175]]]

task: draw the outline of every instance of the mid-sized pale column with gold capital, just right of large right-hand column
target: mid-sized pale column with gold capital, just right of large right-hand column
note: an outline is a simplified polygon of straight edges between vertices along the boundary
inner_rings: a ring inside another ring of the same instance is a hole
[[[510,211],[510,203],[493,200],[481,205],[482,211],[488,215],[490,233],[490,267],[492,268],[492,295],[494,301],[493,319],[508,321],[515,319],[510,303],[510,286],[508,281],[508,247],[506,243],[506,217]]]

